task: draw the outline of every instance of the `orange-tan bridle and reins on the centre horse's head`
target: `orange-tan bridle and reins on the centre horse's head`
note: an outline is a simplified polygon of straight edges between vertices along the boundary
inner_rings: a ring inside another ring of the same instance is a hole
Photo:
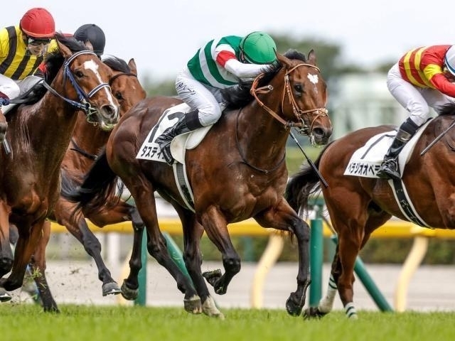
[[[271,114],[272,117],[274,117],[274,119],[277,119],[277,121],[282,123],[286,129],[291,128],[291,126],[301,127],[301,129],[299,129],[300,134],[310,135],[311,131],[313,131],[313,126],[314,126],[316,119],[319,119],[319,117],[326,117],[328,115],[328,110],[326,108],[302,110],[297,105],[297,102],[291,91],[291,82],[289,81],[289,74],[291,72],[293,72],[294,70],[296,70],[297,67],[301,67],[301,66],[314,67],[316,70],[318,70],[318,72],[320,72],[319,67],[317,67],[315,65],[301,63],[299,65],[292,67],[291,70],[287,70],[286,74],[284,75],[284,90],[283,90],[283,95],[282,95],[282,108],[284,108],[284,97],[287,94],[287,97],[289,98],[289,103],[291,104],[292,111],[294,112],[294,116],[296,117],[297,122],[285,121],[276,112],[274,112],[272,109],[267,107],[267,105],[265,105],[263,102],[261,102],[261,100],[257,97],[257,94],[267,94],[268,92],[271,92],[273,90],[272,85],[266,85],[264,87],[257,88],[257,84],[258,84],[259,80],[261,80],[262,77],[264,77],[264,73],[258,75],[255,78],[255,80],[253,81],[250,93],[252,94],[253,97],[255,97],[256,102],[259,104],[259,106],[262,107],[269,114]],[[316,117],[314,117],[313,121],[311,121],[311,125],[308,126],[305,124],[305,121],[302,118],[302,116],[304,114],[309,114],[309,113],[313,113],[313,112],[316,112]]]

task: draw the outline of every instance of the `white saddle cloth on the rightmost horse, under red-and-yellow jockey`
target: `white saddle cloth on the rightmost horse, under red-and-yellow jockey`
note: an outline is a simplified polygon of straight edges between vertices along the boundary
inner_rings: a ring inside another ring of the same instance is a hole
[[[427,128],[430,121],[427,121],[427,123],[425,123],[417,131],[417,133],[412,136],[412,139],[410,139],[400,152],[398,156],[400,174],[405,171],[406,163],[409,161],[410,155],[412,151],[414,151],[417,141],[419,141],[419,137],[422,135],[425,128]],[[387,153],[395,135],[397,135],[397,131],[392,130],[375,135],[369,139],[365,146],[358,148],[358,150],[355,151],[350,157],[350,161],[348,166],[346,166],[344,175],[360,176],[363,178],[378,178],[376,173],[378,173],[385,153]]]

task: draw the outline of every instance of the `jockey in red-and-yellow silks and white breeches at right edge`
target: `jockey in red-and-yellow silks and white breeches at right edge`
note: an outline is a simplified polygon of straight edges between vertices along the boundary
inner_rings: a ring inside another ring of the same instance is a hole
[[[438,110],[454,102],[455,45],[434,45],[410,50],[392,66],[387,87],[395,99],[410,112],[401,124],[378,171],[378,177],[400,180],[397,158],[419,126],[427,121],[429,107]]]

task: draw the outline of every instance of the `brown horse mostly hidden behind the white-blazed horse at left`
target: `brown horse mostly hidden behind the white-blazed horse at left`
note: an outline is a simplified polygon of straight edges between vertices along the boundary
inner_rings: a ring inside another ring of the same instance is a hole
[[[112,94],[114,94],[114,97],[119,102],[120,116],[122,116],[134,104],[139,102],[139,100],[146,97],[146,92],[137,78],[136,63],[132,59],[127,64],[124,60],[113,56],[105,58],[103,63],[112,69],[112,77],[109,80],[109,85]],[[90,169],[90,166],[92,166],[97,153],[105,146],[109,134],[110,131],[100,129],[99,125],[87,122],[85,114],[79,112],[73,136],[71,137],[61,165],[61,181],[63,186],[75,187],[82,183],[83,176]],[[136,208],[124,201],[116,201],[116,203],[117,205],[110,205],[109,209],[105,210],[105,212],[90,215],[87,218],[98,227],[131,220],[135,234],[134,238],[141,240],[144,223],[140,219]],[[102,281],[102,295],[107,296],[109,294],[120,293],[121,289],[112,278],[109,269],[107,269],[105,262],[102,260],[101,244],[90,231],[84,217],[77,217],[77,220],[71,219],[70,215],[74,207],[75,204],[68,202],[64,197],[60,196],[55,203],[53,212],[50,213],[48,218],[65,226],[84,246],[87,254],[93,257],[98,269],[98,278]],[[43,303],[43,309],[45,311],[58,311],[57,303],[55,303],[50,293],[50,288],[45,278],[45,247],[50,238],[49,221],[45,222],[43,232],[41,243],[31,259],[31,272],[32,274],[38,274],[37,276],[33,276],[33,278],[36,281],[41,302]],[[141,245],[140,242],[138,244],[139,246]],[[139,256],[134,257],[139,257],[140,259],[140,247],[139,249],[135,248],[134,251],[139,253]],[[131,278],[137,278],[137,274]],[[131,286],[135,286],[135,282],[131,283]],[[132,296],[132,293],[127,292],[125,295],[127,298],[130,298],[129,296]],[[130,299],[134,298],[132,296]]]

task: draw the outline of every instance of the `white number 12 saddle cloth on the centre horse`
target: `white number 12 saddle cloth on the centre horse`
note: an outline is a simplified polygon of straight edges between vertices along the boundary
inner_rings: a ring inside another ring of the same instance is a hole
[[[161,153],[161,148],[159,148],[159,144],[156,144],[155,140],[158,136],[163,134],[166,129],[176,124],[177,121],[190,110],[191,108],[186,103],[181,103],[166,109],[156,125],[151,128],[145,141],[142,143],[141,148],[139,148],[136,158],[166,162],[163,153]],[[179,163],[185,163],[186,149],[196,148],[211,127],[212,126],[204,126],[195,131],[176,136],[171,142],[171,153],[173,158]]]

